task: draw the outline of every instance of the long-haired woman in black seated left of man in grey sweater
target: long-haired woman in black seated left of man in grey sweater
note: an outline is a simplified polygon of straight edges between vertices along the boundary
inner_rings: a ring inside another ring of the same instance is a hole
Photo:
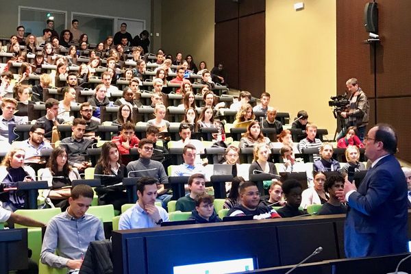
[[[123,182],[127,177],[127,168],[121,164],[119,149],[114,142],[105,142],[101,147],[101,156],[95,167],[95,178],[101,180],[101,187],[96,188],[99,206],[112,204],[114,210],[121,210],[127,203],[127,193],[123,186],[112,186]],[[104,175],[110,175],[104,176]]]

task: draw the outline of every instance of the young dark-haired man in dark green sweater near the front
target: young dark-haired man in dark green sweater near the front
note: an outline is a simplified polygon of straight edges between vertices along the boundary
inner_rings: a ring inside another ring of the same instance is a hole
[[[188,179],[188,190],[190,193],[181,197],[175,203],[175,210],[192,212],[195,210],[195,198],[206,192],[206,177],[201,173],[194,173]]]

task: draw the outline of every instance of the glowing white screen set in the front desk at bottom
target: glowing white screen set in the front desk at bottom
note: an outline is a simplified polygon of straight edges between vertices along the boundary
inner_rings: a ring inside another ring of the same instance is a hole
[[[202,264],[187,264],[174,266],[173,274],[223,274],[255,269],[253,258],[224,260],[219,262],[204,262]]]

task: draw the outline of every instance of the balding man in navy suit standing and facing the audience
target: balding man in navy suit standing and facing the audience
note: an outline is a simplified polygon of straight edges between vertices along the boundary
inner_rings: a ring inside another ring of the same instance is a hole
[[[345,181],[338,192],[349,205],[345,220],[347,258],[384,256],[408,251],[407,183],[399,162],[397,135],[390,125],[379,124],[369,130],[365,155],[371,169],[356,189]]]

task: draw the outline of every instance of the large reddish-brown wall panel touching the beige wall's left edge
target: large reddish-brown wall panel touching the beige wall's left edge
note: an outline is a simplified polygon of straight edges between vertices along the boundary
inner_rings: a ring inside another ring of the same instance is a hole
[[[254,97],[265,91],[265,12],[240,18],[239,88]]]

